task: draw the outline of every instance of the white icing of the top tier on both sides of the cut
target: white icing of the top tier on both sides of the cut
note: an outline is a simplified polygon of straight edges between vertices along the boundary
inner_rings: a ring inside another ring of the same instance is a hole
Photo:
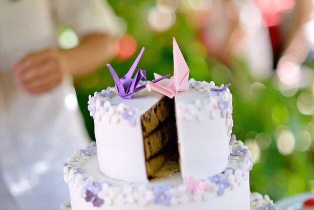
[[[221,92],[210,90],[219,88],[214,82],[191,79],[190,87],[175,96],[180,166],[183,178],[204,179],[227,166],[233,126],[232,95],[228,88]],[[99,166],[104,174],[123,181],[148,182],[141,117],[163,97],[143,89],[132,99],[125,99],[110,87],[90,97]],[[228,107],[222,111],[224,102]],[[130,111],[128,118],[122,117]]]

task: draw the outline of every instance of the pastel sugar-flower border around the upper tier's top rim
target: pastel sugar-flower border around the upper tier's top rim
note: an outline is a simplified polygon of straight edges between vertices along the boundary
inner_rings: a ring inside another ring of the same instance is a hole
[[[147,81],[141,81],[139,85],[145,84]],[[191,78],[189,80],[189,88],[208,93],[208,100],[190,101],[188,103],[178,103],[178,115],[188,121],[196,120],[204,121],[206,118],[213,119],[212,112],[219,112],[222,118],[226,118],[226,126],[228,127],[228,135],[232,133],[232,94],[226,85],[220,87],[215,85],[214,81],[196,81]],[[94,120],[105,120],[109,123],[119,123],[121,120],[128,121],[130,126],[136,125],[136,119],[140,110],[132,105],[120,103],[118,106],[112,105],[110,99],[117,95],[114,87],[107,87],[101,92],[95,92],[93,96],[89,95],[88,111]]]

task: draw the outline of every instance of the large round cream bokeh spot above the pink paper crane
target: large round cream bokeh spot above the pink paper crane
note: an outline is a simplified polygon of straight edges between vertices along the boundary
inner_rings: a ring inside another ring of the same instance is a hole
[[[148,24],[151,29],[163,32],[176,23],[176,14],[170,7],[159,5],[152,7],[148,12]]]

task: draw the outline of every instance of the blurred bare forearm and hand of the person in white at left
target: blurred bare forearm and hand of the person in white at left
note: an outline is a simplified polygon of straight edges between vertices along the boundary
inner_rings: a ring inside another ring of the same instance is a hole
[[[113,55],[112,38],[89,34],[72,49],[45,49],[27,55],[12,68],[18,85],[29,93],[44,93],[58,86],[64,75],[88,74]]]

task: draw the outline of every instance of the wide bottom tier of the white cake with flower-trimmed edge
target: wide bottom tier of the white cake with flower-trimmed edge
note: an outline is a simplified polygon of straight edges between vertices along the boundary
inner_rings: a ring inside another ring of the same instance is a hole
[[[221,174],[204,180],[182,180],[174,159],[149,183],[130,183],[111,179],[100,171],[93,142],[65,163],[64,179],[69,185],[72,210],[249,210],[250,155],[243,143],[233,137],[229,163]]]

